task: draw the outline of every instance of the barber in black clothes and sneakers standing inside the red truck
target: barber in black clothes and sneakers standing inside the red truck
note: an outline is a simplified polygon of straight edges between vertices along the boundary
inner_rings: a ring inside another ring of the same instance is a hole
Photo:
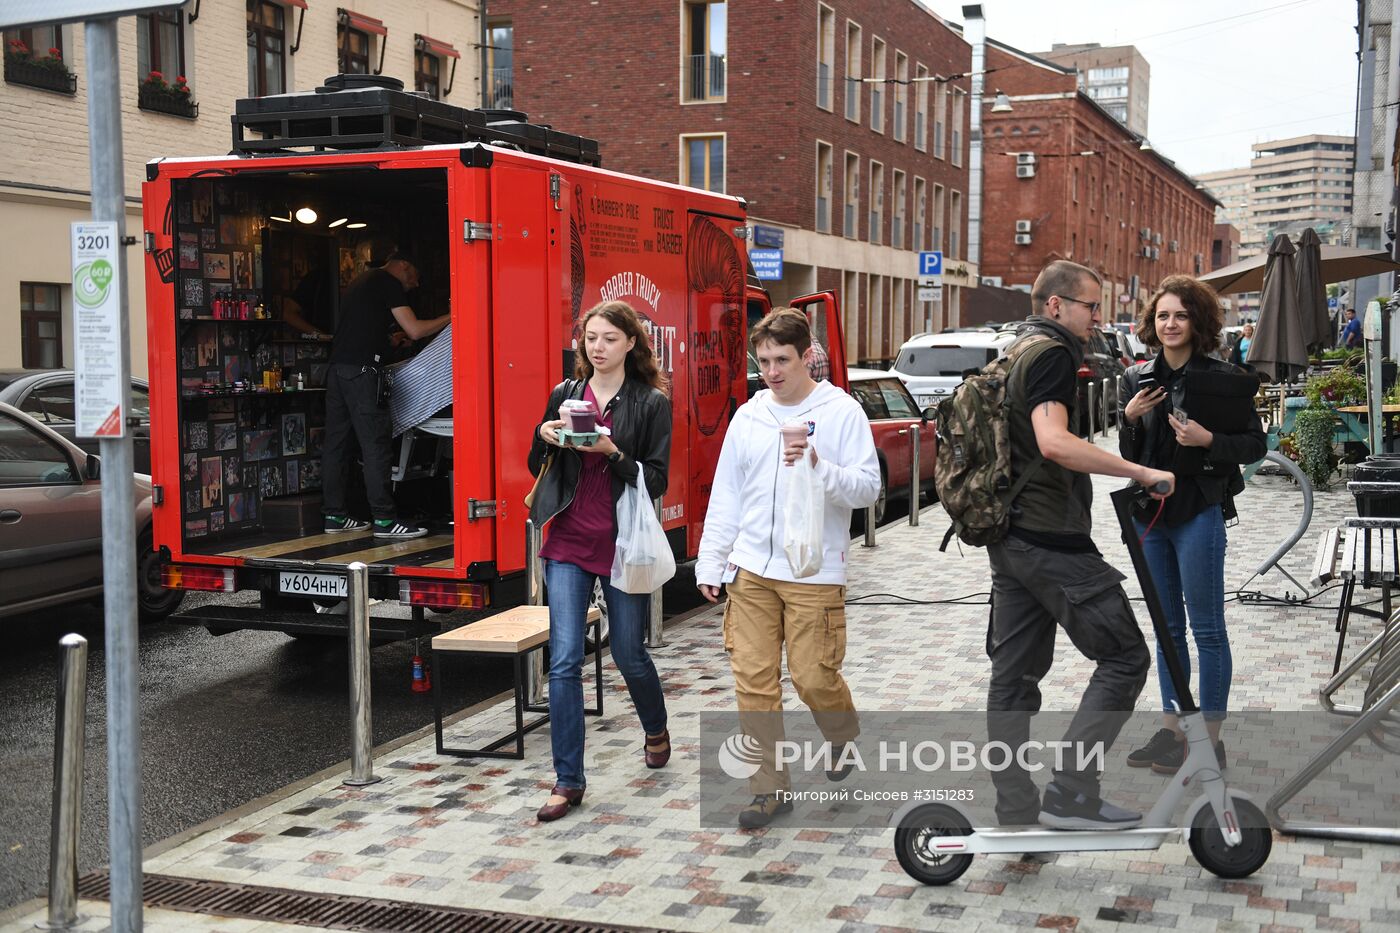
[[[419,286],[417,263],[393,252],[384,266],[370,269],[350,283],[340,298],[340,324],[330,345],[326,375],[326,441],[321,455],[322,513],[325,531],[361,531],[368,523],[346,510],[346,486],[354,441],[364,461],[364,486],[370,497],[375,538],[420,538],[427,528],[400,521],[389,490],[392,462],[391,422],[379,381],[389,359],[389,331],[395,324],[412,339],[433,336],[451,315],[420,321],[406,293]]]

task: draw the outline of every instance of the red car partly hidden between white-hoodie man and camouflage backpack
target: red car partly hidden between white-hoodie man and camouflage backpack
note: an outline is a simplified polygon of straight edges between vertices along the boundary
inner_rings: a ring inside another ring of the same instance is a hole
[[[885,521],[890,497],[909,496],[910,459],[913,444],[909,427],[920,426],[918,434],[918,486],[921,492],[934,490],[934,409],[918,410],[918,403],[893,373],[883,370],[850,370],[851,395],[865,409],[875,431],[875,450],[879,454],[879,500],[875,503],[875,523]],[[910,503],[917,509],[918,503]]]

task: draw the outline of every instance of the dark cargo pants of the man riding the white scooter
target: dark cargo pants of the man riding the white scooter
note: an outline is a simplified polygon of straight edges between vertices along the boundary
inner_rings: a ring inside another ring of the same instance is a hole
[[[1071,745],[1064,769],[1054,772],[1061,787],[1096,797],[1098,769],[1077,769],[1077,748],[1102,742],[1105,754],[1127,721],[1151,667],[1123,574],[1099,553],[1065,553],[1005,538],[987,546],[991,559],[991,622],[987,657],[987,733],[991,741],[1019,749],[1030,740],[1030,716],[1040,709],[1040,679],[1054,663],[1056,623],[1098,663],[1079,709],[1063,735]],[[1046,742],[1053,735],[1036,735]],[[997,817],[1004,825],[1033,824],[1040,792],[1019,766],[993,772]]]

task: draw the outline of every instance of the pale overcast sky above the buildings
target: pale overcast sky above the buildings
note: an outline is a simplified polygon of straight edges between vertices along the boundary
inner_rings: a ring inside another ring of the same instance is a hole
[[[921,0],[962,22],[962,0]],[[1250,146],[1355,132],[1355,0],[983,0],[987,34],[1135,45],[1152,69],[1148,139],[1187,172],[1247,165]]]

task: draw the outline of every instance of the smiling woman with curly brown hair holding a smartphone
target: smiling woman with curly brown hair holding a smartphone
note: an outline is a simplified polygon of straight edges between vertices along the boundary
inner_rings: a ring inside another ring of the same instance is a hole
[[[1119,451],[1124,459],[1177,474],[1176,493],[1141,506],[1134,516],[1152,583],[1166,612],[1168,628],[1187,677],[1191,658],[1186,643],[1190,619],[1200,658],[1198,702],[1221,768],[1225,747],[1221,721],[1229,702],[1231,651],[1225,630],[1225,523],[1235,518],[1235,495],[1245,489],[1239,465],[1252,464],[1267,448],[1263,424],[1252,415],[1247,430],[1210,431],[1190,419],[1187,373],[1243,373],[1211,356],[1219,347],[1224,314],[1215,291],[1190,276],[1168,276],[1148,301],[1138,336],[1156,357],[1123,375],[1119,395]],[[1123,399],[1127,399],[1124,403]],[[1183,455],[1186,448],[1203,454]],[[1184,469],[1184,464],[1196,464]],[[1187,475],[1183,475],[1186,472]],[[1162,728],[1128,755],[1128,765],[1172,775],[1186,755],[1176,721],[1176,692],[1166,674],[1162,646],[1156,649],[1162,689]]]

